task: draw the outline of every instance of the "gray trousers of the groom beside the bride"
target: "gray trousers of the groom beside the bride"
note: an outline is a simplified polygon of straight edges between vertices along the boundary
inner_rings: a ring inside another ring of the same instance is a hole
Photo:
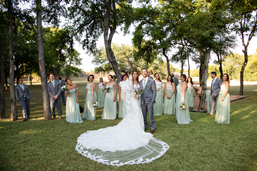
[[[150,120],[150,129],[151,130],[155,129],[153,105],[154,105],[154,103],[152,101],[150,101],[150,103],[146,103],[144,101],[144,104],[141,105],[143,118],[144,118],[144,129],[146,129],[146,127],[147,127],[147,111],[148,111],[149,120]]]

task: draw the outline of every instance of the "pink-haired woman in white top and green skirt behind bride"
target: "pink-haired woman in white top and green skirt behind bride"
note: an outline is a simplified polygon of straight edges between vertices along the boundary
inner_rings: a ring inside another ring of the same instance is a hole
[[[119,114],[118,114],[119,119],[124,118],[123,99],[124,99],[127,84],[128,84],[127,74],[123,74],[123,76],[121,77],[121,82],[119,83],[119,100],[120,100],[120,102],[119,102]]]

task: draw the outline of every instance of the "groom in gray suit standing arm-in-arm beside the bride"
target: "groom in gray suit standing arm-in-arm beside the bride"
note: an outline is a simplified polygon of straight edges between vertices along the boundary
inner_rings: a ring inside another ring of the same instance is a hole
[[[154,114],[153,114],[153,105],[155,103],[156,98],[156,85],[155,81],[147,76],[147,69],[142,69],[142,76],[144,79],[139,81],[140,87],[143,88],[143,93],[141,94],[141,108],[144,118],[144,130],[147,127],[147,111],[149,114],[150,120],[150,129],[151,133],[154,133],[155,122],[154,122]]]

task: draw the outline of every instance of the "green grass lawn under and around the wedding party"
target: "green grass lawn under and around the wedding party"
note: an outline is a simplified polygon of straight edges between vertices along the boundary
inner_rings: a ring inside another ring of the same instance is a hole
[[[87,79],[72,80],[79,87],[79,105],[84,106]],[[231,86],[230,95],[238,95],[239,88]],[[215,115],[206,113],[190,113],[193,122],[186,125],[178,125],[175,115],[155,116],[154,137],[170,149],[149,164],[121,167],[97,163],[75,150],[82,133],[117,125],[121,119],[102,120],[103,108],[97,108],[95,121],[71,124],[66,122],[62,105],[63,120],[45,121],[41,85],[29,85],[29,89],[29,121],[23,121],[19,103],[19,120],[10,121],[10,92],[5,90],[7,118],[0,119],[0,170],[257,170],[256,85],[245,85],[248,97],[231,102],[229,125],[215,123]]]

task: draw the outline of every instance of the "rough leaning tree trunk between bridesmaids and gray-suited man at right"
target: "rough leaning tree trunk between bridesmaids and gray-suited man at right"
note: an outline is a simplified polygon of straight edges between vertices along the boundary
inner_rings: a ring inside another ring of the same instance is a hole
[[[210,51],[206,50],[206,60],[205,60],[205,67],[203,68],[203,78],[202,78],[202,93],[200,98],[200,103],[198,106],[198,111],[204,111],[204,105],[205,105],[205,90],[206,90],[206,82],[208,78],[208,65],[210,61]]]

